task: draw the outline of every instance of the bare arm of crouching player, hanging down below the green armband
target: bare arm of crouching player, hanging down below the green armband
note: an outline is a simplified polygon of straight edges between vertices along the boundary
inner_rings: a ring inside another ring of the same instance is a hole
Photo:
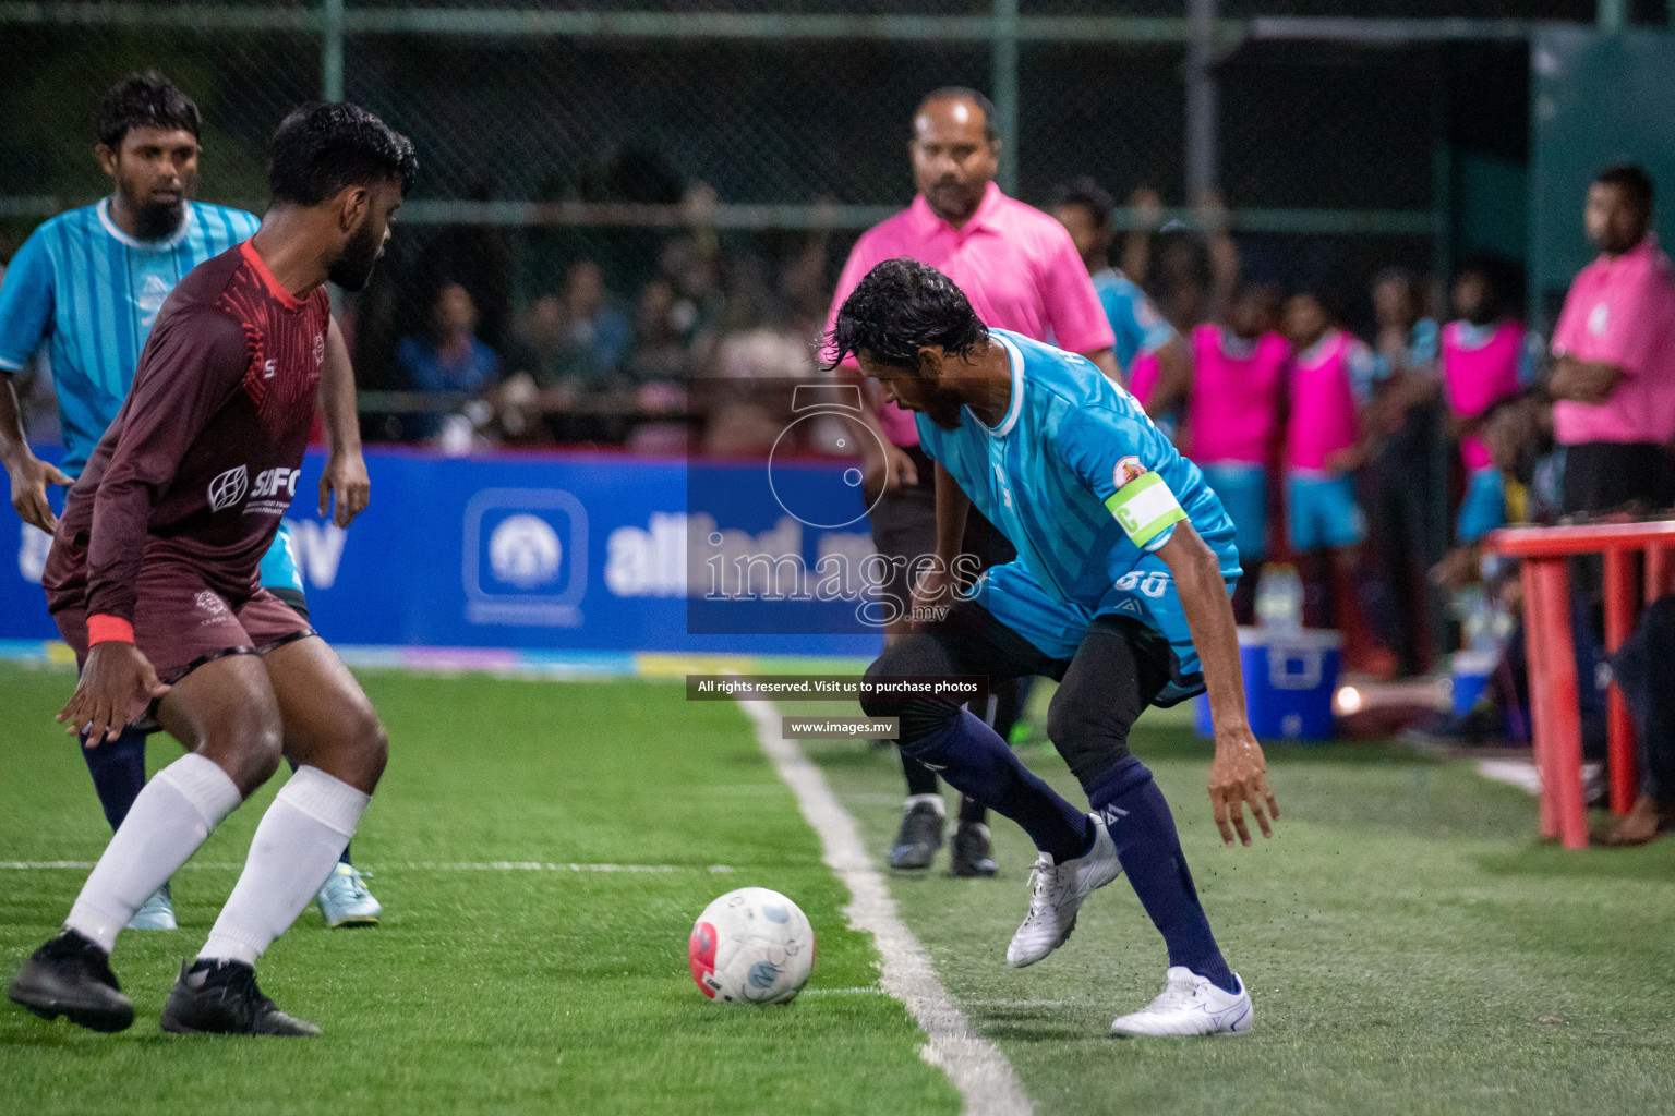
[[[1261,835],[1273,837],[1271,818],[1280,817],[1280,803],[1268,788],[1268,763],[1245,716],[1240,639],[1221,564],[1186,522],[1176,524],[1174,535],[1159,547],[1157,557],[1174,576],[1181,609],[1193,629],[1193,646],[1204,664],[1216,735],[1216,758],[1209,765],[1209,803],[1216,828],[1224,843],[1233,845],[1238,833],[1240,843],[1250,845],[1251,835],[1245,825],[1245,806],[1250,806]]]

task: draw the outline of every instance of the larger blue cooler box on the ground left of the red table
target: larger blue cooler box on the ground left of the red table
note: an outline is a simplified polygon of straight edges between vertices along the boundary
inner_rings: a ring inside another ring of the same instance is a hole
[[[1265,740],[1332,740],[1332,696],[1342,659],[1342,632],[1241,627],[1240,663],[1251,731]],[[1213,735],[1208,696],[1198,698],[1194,719],[1203,736]]]

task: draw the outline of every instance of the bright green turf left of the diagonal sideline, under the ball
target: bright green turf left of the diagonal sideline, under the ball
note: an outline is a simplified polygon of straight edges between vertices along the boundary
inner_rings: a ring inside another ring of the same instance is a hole
[[[848,892],[727,703],[675,684],[368,674],[392,758],[355,838],[385,905],[372,930],[313,909],[261,962],[313,1041],[176,1037],[157,1012],[236,870],[176,875],[181,930],[124,934],[139,1019],[119,1036],[0,1002],[8,1113],[946,1113],[923,1036],[878,992]],[[0,664],[0,862],[94,860],[109,830],[52,713],[74,676]],[[179,748],[152,738],[152,766]],[[243,860],[275,780],[198,862]],[[464,870],[486,862],[673,872]],[[730,873],[714,873],[727,865]],[[0,969],[49,937],[85,870],[0,868]],[[687,934],[715,895],[789,893],[819,939],[789,1007],[712,1004]]]

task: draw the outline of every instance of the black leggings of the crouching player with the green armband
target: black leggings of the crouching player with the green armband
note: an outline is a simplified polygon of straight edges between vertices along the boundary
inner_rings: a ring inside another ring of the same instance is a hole
[[[985,674],[990,688],[1028,674],[1059,679],[1047,708],[1047,736],[1084,790],[1129,756],[1129,729],[1171,681],[1169,644],[1126,616],[1100,616],[1069,659],[1054,659],[987,609],[961,601],[930,631],[896,641],[868,678]],[[869,698],[868,716],[901,718],[901,750],[913,755],[960,704],[935,698]]]

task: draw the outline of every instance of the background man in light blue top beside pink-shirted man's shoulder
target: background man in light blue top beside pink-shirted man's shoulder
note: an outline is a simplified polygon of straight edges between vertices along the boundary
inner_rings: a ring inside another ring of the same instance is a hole
[[[1111,266],[1111,194],[1090,177],[1059,186],[1049,211],[1070,234],[1116,335],[1117,368],[1146,413],[1174,437],[1174,415],[1193,383],[1193,361],[1174,331],[1132,279]]]

